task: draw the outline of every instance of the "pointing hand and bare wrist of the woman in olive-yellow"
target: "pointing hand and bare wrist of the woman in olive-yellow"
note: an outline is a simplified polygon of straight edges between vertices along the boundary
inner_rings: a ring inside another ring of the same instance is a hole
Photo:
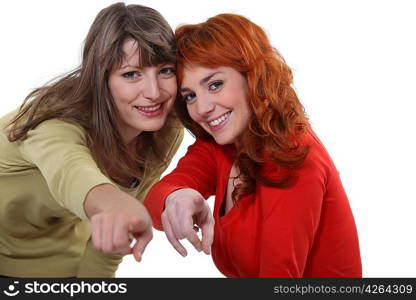
[[[103,184],[88,193],[84,203],[91,220],[92,242],[104,253],[130,254],[140,262],[152,240],[152,221],[146,208],[137,199]],[[132,239],[136,239],[130,248]]]

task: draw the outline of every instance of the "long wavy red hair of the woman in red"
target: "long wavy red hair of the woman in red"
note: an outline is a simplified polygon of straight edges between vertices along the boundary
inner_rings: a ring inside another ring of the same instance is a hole
[[[309,150],[300,143],[309,122],[292,87],[292,72],[265,32],[245,17],[220,14],[200,24],[180,26],[175,35],[179,86],[187,65],[231,67],[247,80],[253,114],[248,130],[236,143],[241,183],[234,189],[233,201],[253,192],[256,182],[278,188],[291,186]],[[212,138],[191,119],[185,101],[177,100],[175,110],[195,137]],[[277,164],[277,178],[262,171],[266,161]]]

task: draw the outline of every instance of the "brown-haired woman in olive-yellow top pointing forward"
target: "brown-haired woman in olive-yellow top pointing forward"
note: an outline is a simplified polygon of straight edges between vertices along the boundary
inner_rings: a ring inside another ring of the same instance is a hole
[[[116,3],[94,20],[81,66],[0,119],[1,276],[111,277],[122,255],[141,260],[152,239],[141,201],[183,137],[175,61],[157,11]]]

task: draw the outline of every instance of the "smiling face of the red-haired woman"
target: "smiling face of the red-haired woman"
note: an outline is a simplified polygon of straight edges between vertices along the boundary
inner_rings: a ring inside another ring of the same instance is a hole
[[[190,117],[220,145],[232,144],[247,128],[251,111],[247,80],[229,67],[184,68],[181,98]]]

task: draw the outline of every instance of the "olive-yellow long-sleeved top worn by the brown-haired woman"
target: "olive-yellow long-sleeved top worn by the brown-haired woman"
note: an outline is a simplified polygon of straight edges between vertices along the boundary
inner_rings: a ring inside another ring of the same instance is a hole
[[[167,165],[145,168],[138,187],[123,188],[98,168],[81,126],[52,119],[10,143],[4,127],[15,113],[0,118],[0,276],[114,277],[122,256],[92,246],[84,199],[110,183],[143,201]],[[168,130],[170,162],[183,129]]]

